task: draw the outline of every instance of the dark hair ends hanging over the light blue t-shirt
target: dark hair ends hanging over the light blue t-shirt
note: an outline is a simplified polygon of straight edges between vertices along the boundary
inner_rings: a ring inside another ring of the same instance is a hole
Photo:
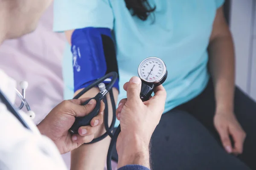
[[[126,7],[132,10],[132,15],[139,17],[145,21],[148,16],[154,12],[156,6],[153,8],[149,5],[148,0],[125,0]]]

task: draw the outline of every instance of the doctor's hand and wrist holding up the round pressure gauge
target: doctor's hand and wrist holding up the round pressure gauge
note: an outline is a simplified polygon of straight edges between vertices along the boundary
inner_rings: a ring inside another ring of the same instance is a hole
[[[140,99],[141,80],[132,77],[124,85],[127,99],[122,99],[116,110],[121,133],[116,142],[118,167],[126,164],[140,164],[150,168],[149,143],[164,111],[166,91],[157,86],[154,96],[148,101]]]

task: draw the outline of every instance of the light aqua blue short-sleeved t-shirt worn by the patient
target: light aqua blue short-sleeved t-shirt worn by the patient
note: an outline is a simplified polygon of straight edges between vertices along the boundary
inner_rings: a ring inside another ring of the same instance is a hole
[[[142,21],[126,8],[125,0],[55,0],[54,31],[85,27],[113,30],[119,67],[119,100],[122,86],[146,57],[166,63],[168,77],[164,112],[189,101],[207,85],[209,37],[217,9],[224,0],[149,0],[156,10]],[[73,97],[70,46],[63,59],[65,99]]]

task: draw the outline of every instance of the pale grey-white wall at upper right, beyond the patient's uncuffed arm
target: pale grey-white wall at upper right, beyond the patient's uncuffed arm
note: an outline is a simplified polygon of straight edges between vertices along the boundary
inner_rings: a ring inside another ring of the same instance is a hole
[[[255,0],[231,0],[230,30],[236,52],[236,84],[256,100],[255,9]]]

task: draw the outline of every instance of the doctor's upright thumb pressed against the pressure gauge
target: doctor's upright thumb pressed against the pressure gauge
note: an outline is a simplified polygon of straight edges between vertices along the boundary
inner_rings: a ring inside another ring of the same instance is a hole
[[[141,79],[132,77],[127,85],[127,100],[140,100]]]

